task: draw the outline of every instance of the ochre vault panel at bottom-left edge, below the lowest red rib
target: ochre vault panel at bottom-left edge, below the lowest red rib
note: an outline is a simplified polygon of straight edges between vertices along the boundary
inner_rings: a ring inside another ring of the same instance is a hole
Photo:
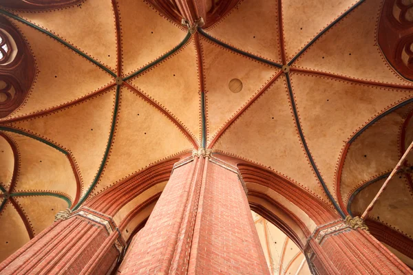
[[[0,213],[0,232],[0,262],[30,241],[28,231],[10,201]]]

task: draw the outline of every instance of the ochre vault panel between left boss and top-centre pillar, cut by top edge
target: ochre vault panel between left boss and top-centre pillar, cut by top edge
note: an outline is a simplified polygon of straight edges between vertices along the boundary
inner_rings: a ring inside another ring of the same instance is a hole
[[[120,15],[123,75],[155,61],[178,45],[187,31],[143,0],[116,1]]]

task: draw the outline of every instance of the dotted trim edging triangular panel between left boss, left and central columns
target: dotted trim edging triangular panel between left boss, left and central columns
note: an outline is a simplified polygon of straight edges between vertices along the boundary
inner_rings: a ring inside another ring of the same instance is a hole
[[[132,91],[132,90],[129,89],[128,87],[125,87],[125,88],[126,88],[129,92],[131,92],[131,93],[133,93],[134,95],[138,96],[138,98],[140,98],[141,100],[146,101],[145,98],[142,98],[139,94],[136,94],[136,92]],[[116,121],[115,121],[115,126],[114,126],[114,133],[113,133],[113,137],[112,137],[112,143],[109,144],[109,153],[107,154],[107,158],[106,158],[105,164],[103,164],[102,173],[100,173],[100,177],[99,177],[98,181],[96,182],[96,185],[94,186],[92,192],[90,193],[89,198],[95,197],[96,195],[100,194],[101,192],[103,192],[103,191],[107,190],[108,188],[114,186],[114,184],[117,184],[118,182],[122,181],[122,180],[125,179],[126,177],[130,177],[131,175],[133,175],[133,174],[135,174],[135,173],[138,173],[139,171],[141,171],[141,170],[147,168],[148,166],[151,166],[151,165],[153,165],[153,164],[156,163],[156,162],[149,163],[149,164],[147,164],[144,168],[140,168],[139,170],[136,170],[136,171],[133,172],[133,173],[129,173],[129,175],[126,175],[125,177],[123,177],[123,178],[121,178],[121,179],[118,179],[117,181],[113,182],[113,183],[110,184],[109,186],[106,186],[105,188],[103,188],[103,190],[96,191],[97,188],[98,188],[98,185],[99,185],[100,182],[101,182],[101,179],[102,179],[103,176],[105,175],[105,169],[107,168],[107,164],[108,164],[108,162],[109,162],[110,156],[112,155],[112,148],[113,148],[112,145],[114,144],[114,142],[115,142],[115,140],[116,140],[116,131],[117,131],[117,129],[118,129],[118,122],[119,122],[119,117],[120,117],[120,110],[122,109],[122,96],[123,96],[123,92],[122,92],[122,90],[120,90],[120,91],[119,91],[119,102],[118,102],[118,115],[116,115]],[[148,105],[151,106],[151,107],[153,107],[151,104],[148,104]],[[156,109],[157,111],[159,111],[156,107],[153,107],[153,109]],[[162,112],[160,112],[160,113],[162,113]],[[171,121],[171,119],[168,118],[167,115],[165,115],[165,113],[162,113],[162,115],[164,115],[168,120]],[[173,121],[171,121],[171,122],[173,122]],[[176,126],[175,123],[173,123],[173,125]],[[176,128],[178,128],[178,130],[184,135],[184,133],[182,132],[182,130],[181,130],[178,126],[176,126]],[[184,137],[187,138],[187,135],[184,135]],[[189,142],[191,142],[188,138],[187,138],[187,140],[188,140]],[[109,140],[108,140],[108,142],[109,142]],[[180,151],[180,152],[178,152],[178,153],[176,153],[176,154],[174,154],[174,155],[170,155],[169,157],[174,157],[174,156],[180,155],[180,154],[182,154],[182,153],[187,153],[187,152],[190,152],[191,150],[192,150],[192,148],[187,149],[187,150],[184,150],[184,151]],[[169,157],[162,158],[162,159],[160,159],[158,162],[164,161],[165,159],[168,159]]]

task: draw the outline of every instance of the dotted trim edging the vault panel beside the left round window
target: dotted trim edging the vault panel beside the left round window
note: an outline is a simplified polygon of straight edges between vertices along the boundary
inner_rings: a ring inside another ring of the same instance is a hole
[[[13,21],[14,21],[14,19],[12,19]],[[107,85],[109,85],[110,83],[112,83],[112,81],[113,80],[110,80],[108,83],[106,83],[105,85],[103,85],[103,86],[101,86],[101,87],[98,87],[97,89],[94,89],[94,91],[90,91],[88,94],[86,94],[86,95],[84,95],[84,96],[81,96],[81,97],[78,97],[78,98],[74,98],[74,100],[71,100],[71,101],[68,101],[68,102],[63,102],[62,104],[58,104],[58,105],[55,105],[55,106],[51,106],[51,107],[48,107],[47,109],[40,109],[40,110],[37,110],[37,111],[32,111],[32,112],[29,112],[29,113],[23,113],[23,114],[21,114],[21,115],[17,115],[17,113],[19,113],[19,111],[21,111],[21,109],[23,109],[23,107],[25,107],[25,105],[26,104],[28,104],[28,101],[29,101],[29,99],[30,99],[30,96],[32,96],[32,93],[33,93],[33,91],[34,91],[34,88],[36,87],[36,83],[37,83],[37,81],[39,80],[39,74],[41,73],[41,70],[39,70],[39,63],[37,62],[37,58],[36,58],[36,56],[34,55],[34,51],[33,51],[33,49],[32,49],[32,46],[30,45],[30,43],[29,43],[29,41],[28,41],[28,39],[26,38],[26,36],[24,36],[23,35],[23,32],[22,32],[22,30],[21,30],[21,28],[19,28],[15,23],[13,23],[12,21],[10,21],[11,23],[12,23],[12,25],[14,26],[14,28],[16,28],[17,30],[19,30],[19,32],[20,32],[20,34],[21,34],[21,36],[23,37],[23,39],[24,39],[24,41],[25,41],[25,43],[26,43],[26,45],[28,45],[28,48],[29,48],[29,50],[30,50],[30,52],[32,53],[32,56],[33,56],[33,58],[34,58],[34,67],[35,67],[35,76],[34,76],[34,80],[33,80],[33,83],[32,83],[32,86],[30,87],[30,90],[29,90],[29,92],[28,92],[28,95],[25,97],[25,100],[23,101],[23,103],[21,103],[21,105],[19,106],[19,108],[17,108],[16,110],[14,110],[12,113],[10,113],[10,115],[8,115],[6,118],[4,118],[3,120],[6,120],[6,119],[8,119],[8,118],[19,118],[19,117],[23,117],[23,116],[26,116],[26,115],[32,115],[32,114],[34,114],[34,113],[39,113],[39,112],[42,112],[42,111],[47,111],[47,110],[49,110],[49,109],[54,109],[54,108],[59,108],[59,107],[63,107],[63,106],[65,106],[66,104],[72,104],[72,102],[76,102],[77,100],[81,100],[82,98],[87,98],[87,96],[90,96],[91,94],[94,94],[95,92],[97,92],[97,91],[100,91],[101,89],[104,89],[105,87],[107,87]],[[30,28],[30,27],[29,27]],[[40,32],[39,30],[36,30],[37,32]],[[41,32],[40,32],[41,33]],[[50,36],[46,36],[47,37],[47,39],[52,39],[52,37],[50,37]],[[52,40],[54,40],[54,39],[52,39]],[[59,42],[57,42],[59,45],[61,45]],[[65,47],[64,45],[62,45],[63,47]],[[69,49],[70,50],[70,49]],[[71,51],[71,52],[73,52],[73,51]],[[87,60],[87,59],[85,59],[85,60]],[[103,70],[102,68],[100,68],[98,65],[96,65],[96,64],[94,64],[94,63],[92,63],[91,61],[88,61],[89,63],[91,63],[91,64],[93,64],[94,66],[96,66],[96,67],[98,67],[102,72],[105,72],[105,70]],[[109,73],[107,73],[107,72],[105,72],[105,74],[109,74]],[[109,76],[110,76],[110,74],[109,74]],[[112,76],[111,76],[112,77]],[[0,122],[1,122],[1,120],[0,120]]]

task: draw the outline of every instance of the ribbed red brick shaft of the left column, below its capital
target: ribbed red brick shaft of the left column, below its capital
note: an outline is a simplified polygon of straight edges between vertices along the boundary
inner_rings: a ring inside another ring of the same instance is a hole
[[[117,234],[117,232],[116,232]],[[106,228],[81,216],[57,221],[0,265],[0,274],[81,274],[108,239]],[[118,257],[113,243],[107,244],[103,263],[96,270],[105,274]]]

